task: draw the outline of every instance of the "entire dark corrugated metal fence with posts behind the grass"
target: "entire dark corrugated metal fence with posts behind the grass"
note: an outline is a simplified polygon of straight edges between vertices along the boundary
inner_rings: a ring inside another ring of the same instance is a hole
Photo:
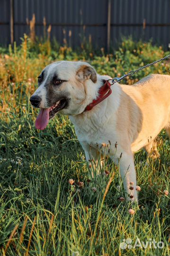
[[[51,38],[72,47],[90,40],[94,47],[116,46],[122,36],[168,48],[170,0],[0,0],[0,44],[20,42],[36,16],[36,36],[51,24]],[[45,22],[44,22],[45,23]]]

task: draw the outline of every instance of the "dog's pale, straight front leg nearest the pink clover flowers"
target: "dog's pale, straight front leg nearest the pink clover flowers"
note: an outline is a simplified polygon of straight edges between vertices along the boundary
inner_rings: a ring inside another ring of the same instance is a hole
[[[136,172],[134,168],[134,155],[132,152],[123,152],[119,160],[120,174],[123,179],[124,188],[128,194],[127,199],[137,201]]]

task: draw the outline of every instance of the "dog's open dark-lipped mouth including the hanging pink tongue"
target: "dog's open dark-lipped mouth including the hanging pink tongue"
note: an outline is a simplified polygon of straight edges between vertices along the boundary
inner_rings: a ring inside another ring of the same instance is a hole
[[[56,113],[63,110],[67,106],[67,100],[62,99],[57,101],[53,106],[48,109],[41,109],[36,118],[36,128],[44,130],[47,127],[49,119],[53,118]]]

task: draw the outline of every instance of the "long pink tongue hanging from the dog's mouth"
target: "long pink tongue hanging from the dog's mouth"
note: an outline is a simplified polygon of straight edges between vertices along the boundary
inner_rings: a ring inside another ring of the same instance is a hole
[[[50,108],[40,110],[35,123],[37,129],[44,130],[46,128],[49,121],[49,111]]]

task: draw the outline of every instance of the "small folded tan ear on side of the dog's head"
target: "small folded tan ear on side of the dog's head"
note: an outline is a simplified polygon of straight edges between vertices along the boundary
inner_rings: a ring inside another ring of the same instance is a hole
[[[81,65],[81,67],[76,72],[76,78],[78,80],[87,80],[91,79],[92,82],[97,82],[97,73],[94,68],[88,65]]]

